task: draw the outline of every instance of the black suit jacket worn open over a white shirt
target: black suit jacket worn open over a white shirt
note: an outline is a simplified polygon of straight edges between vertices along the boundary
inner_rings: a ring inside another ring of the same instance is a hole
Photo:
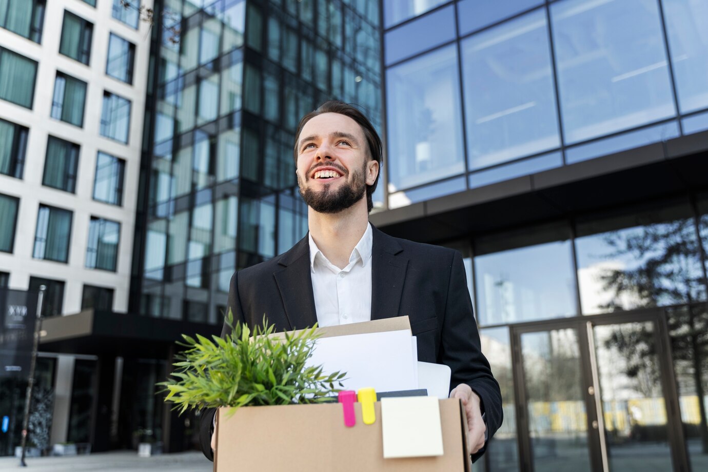
[[[462,255],[372,229],[371,319],[409,316],[418,360],[449,366],[451,389],[463,383],[472,387],[481,398],[491,437],[502,421],[501,393],[481,353]],[[308,236],[290,251],[234,273],[229,309],[234,322],[250,327],[263,323],[264,313],[279,331],[313,326],[317,315]],[[224,323],[222,336],[226,330]],[[200,431],[202,450],[210,460],[214,411],[202,414]]]

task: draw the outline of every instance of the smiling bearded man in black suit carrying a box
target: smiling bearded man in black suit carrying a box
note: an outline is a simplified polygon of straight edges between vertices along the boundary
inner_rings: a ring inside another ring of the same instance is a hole
[[[309,234],[290,251],[236,272],[229,309],[251,327],[265,313],[276,330],[409,316],[418,359],[452,370],[450,397],[467,411],[476,459],[501,425],[501,393],[480,350],[462,256],[371,226],[381,161],[381,139],[353,106],[329,101],[302,117],[295,163]],[[222,335],[226,330],[224,324]],[[207,410],[201,426],[211,460],[213,418]]]

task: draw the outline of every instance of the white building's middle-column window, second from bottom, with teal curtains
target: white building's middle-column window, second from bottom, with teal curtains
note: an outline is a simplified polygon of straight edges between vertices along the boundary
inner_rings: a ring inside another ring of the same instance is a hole
[[[59,263],[67,262],[71,235],[72,212],[49,205],[40,205],[33,257],[55,260]]]

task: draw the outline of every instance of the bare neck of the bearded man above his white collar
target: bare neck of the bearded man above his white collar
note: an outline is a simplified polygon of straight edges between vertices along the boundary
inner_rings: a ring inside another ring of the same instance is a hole
[[[318,213],[308,208],[309,231],[315,244],[331,263],[343,269],[369,222],[366,199],[339,213]]]

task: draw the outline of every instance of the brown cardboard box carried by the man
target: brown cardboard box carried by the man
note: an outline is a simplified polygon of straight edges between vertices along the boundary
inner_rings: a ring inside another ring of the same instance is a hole
[[[220,408],[215,472],[469,472],[467,419],[457,399],[440,400],[444,454],[384,459],[381,405],[365,425],[355,403],[356,425],[346,427],[342,405],[251,406],[229,418]],[[411,412],[411,414],[415,414]]]

